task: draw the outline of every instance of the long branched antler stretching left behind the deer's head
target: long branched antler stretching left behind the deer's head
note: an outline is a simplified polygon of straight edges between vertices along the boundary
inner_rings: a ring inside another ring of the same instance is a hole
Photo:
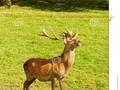
[[[63,40],[63,38],[58,38],[58,37],[57,37],[57,35],[56,35],[56,34],[54,33],[54,31],[52,30],[52,28],[50,28],[50,29],[51,29],[53,35],[55,36],[55,38],[50,37],[50,36],[47,34],[47,32],[45,31],[45,29],[44,29],[43,27],[41,28],[41,34],[38,34],[38,35],[39,35],[39,36],[48,37],[48,38],[50,38],[50,39],[52,39],[52,40]]]

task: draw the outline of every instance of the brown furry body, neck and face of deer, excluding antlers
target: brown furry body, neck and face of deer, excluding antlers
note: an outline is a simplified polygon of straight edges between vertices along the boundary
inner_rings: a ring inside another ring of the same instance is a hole
[[[63,90],[63,80],[74,63],[74,49],[80,45],[78,40],[65,41],[63,53],[58,56],[60,61],[54,62],[51,59],[31,58],[24,64],[26,81],[24,90],[35,80],[51,81],[52,90],[55,90],[55,81],[59,80],[60,90]]]

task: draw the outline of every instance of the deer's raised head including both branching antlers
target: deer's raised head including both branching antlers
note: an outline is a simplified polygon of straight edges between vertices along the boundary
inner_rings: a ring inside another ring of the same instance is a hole
[[[67,32],[62,33],[62,38],[58,38],[52,29],[51,29],[51,31],[52,31],[53,35],[55,36],[54,38],[50,37],[44,28],[41,28],[41,33],[38,35],[48,37],[52,40],[63,40],[67,50],[74,50],[75,48],[77,48],[78,46],[81,45],[81,42],[79,40],[77,40],[78,30],[72,36],[72,32],[67,29]]]

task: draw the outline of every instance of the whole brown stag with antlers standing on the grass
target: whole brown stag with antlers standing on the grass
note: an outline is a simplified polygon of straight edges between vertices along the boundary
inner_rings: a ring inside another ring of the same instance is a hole
[[[30,58],[27,60],[23,65],[26,74],[23,90],[28,90],[36,79],[43,82],[51,81],[51,90],[55,90],[55,82],[59,80],[60,90],[64,90],[64,78],[74,63],[75,49],[81,45],[81,41],[77,40],[78,30],[74,35],[67,30],[62,33],[62,38],[57,37],[53,30],[52,33],[54,37],[49,36],[46,30],[41,28],[41,33],[38,35],[52,40],[63,40],[65,46],[62,54],[50,59]]]

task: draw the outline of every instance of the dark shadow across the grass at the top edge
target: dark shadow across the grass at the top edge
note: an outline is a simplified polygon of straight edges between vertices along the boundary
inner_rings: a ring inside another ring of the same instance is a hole
[[[77,12],[86,9],[108,10],[107,0],[14,0],[14,4],[29,6],[33,9],[57,12]]]

